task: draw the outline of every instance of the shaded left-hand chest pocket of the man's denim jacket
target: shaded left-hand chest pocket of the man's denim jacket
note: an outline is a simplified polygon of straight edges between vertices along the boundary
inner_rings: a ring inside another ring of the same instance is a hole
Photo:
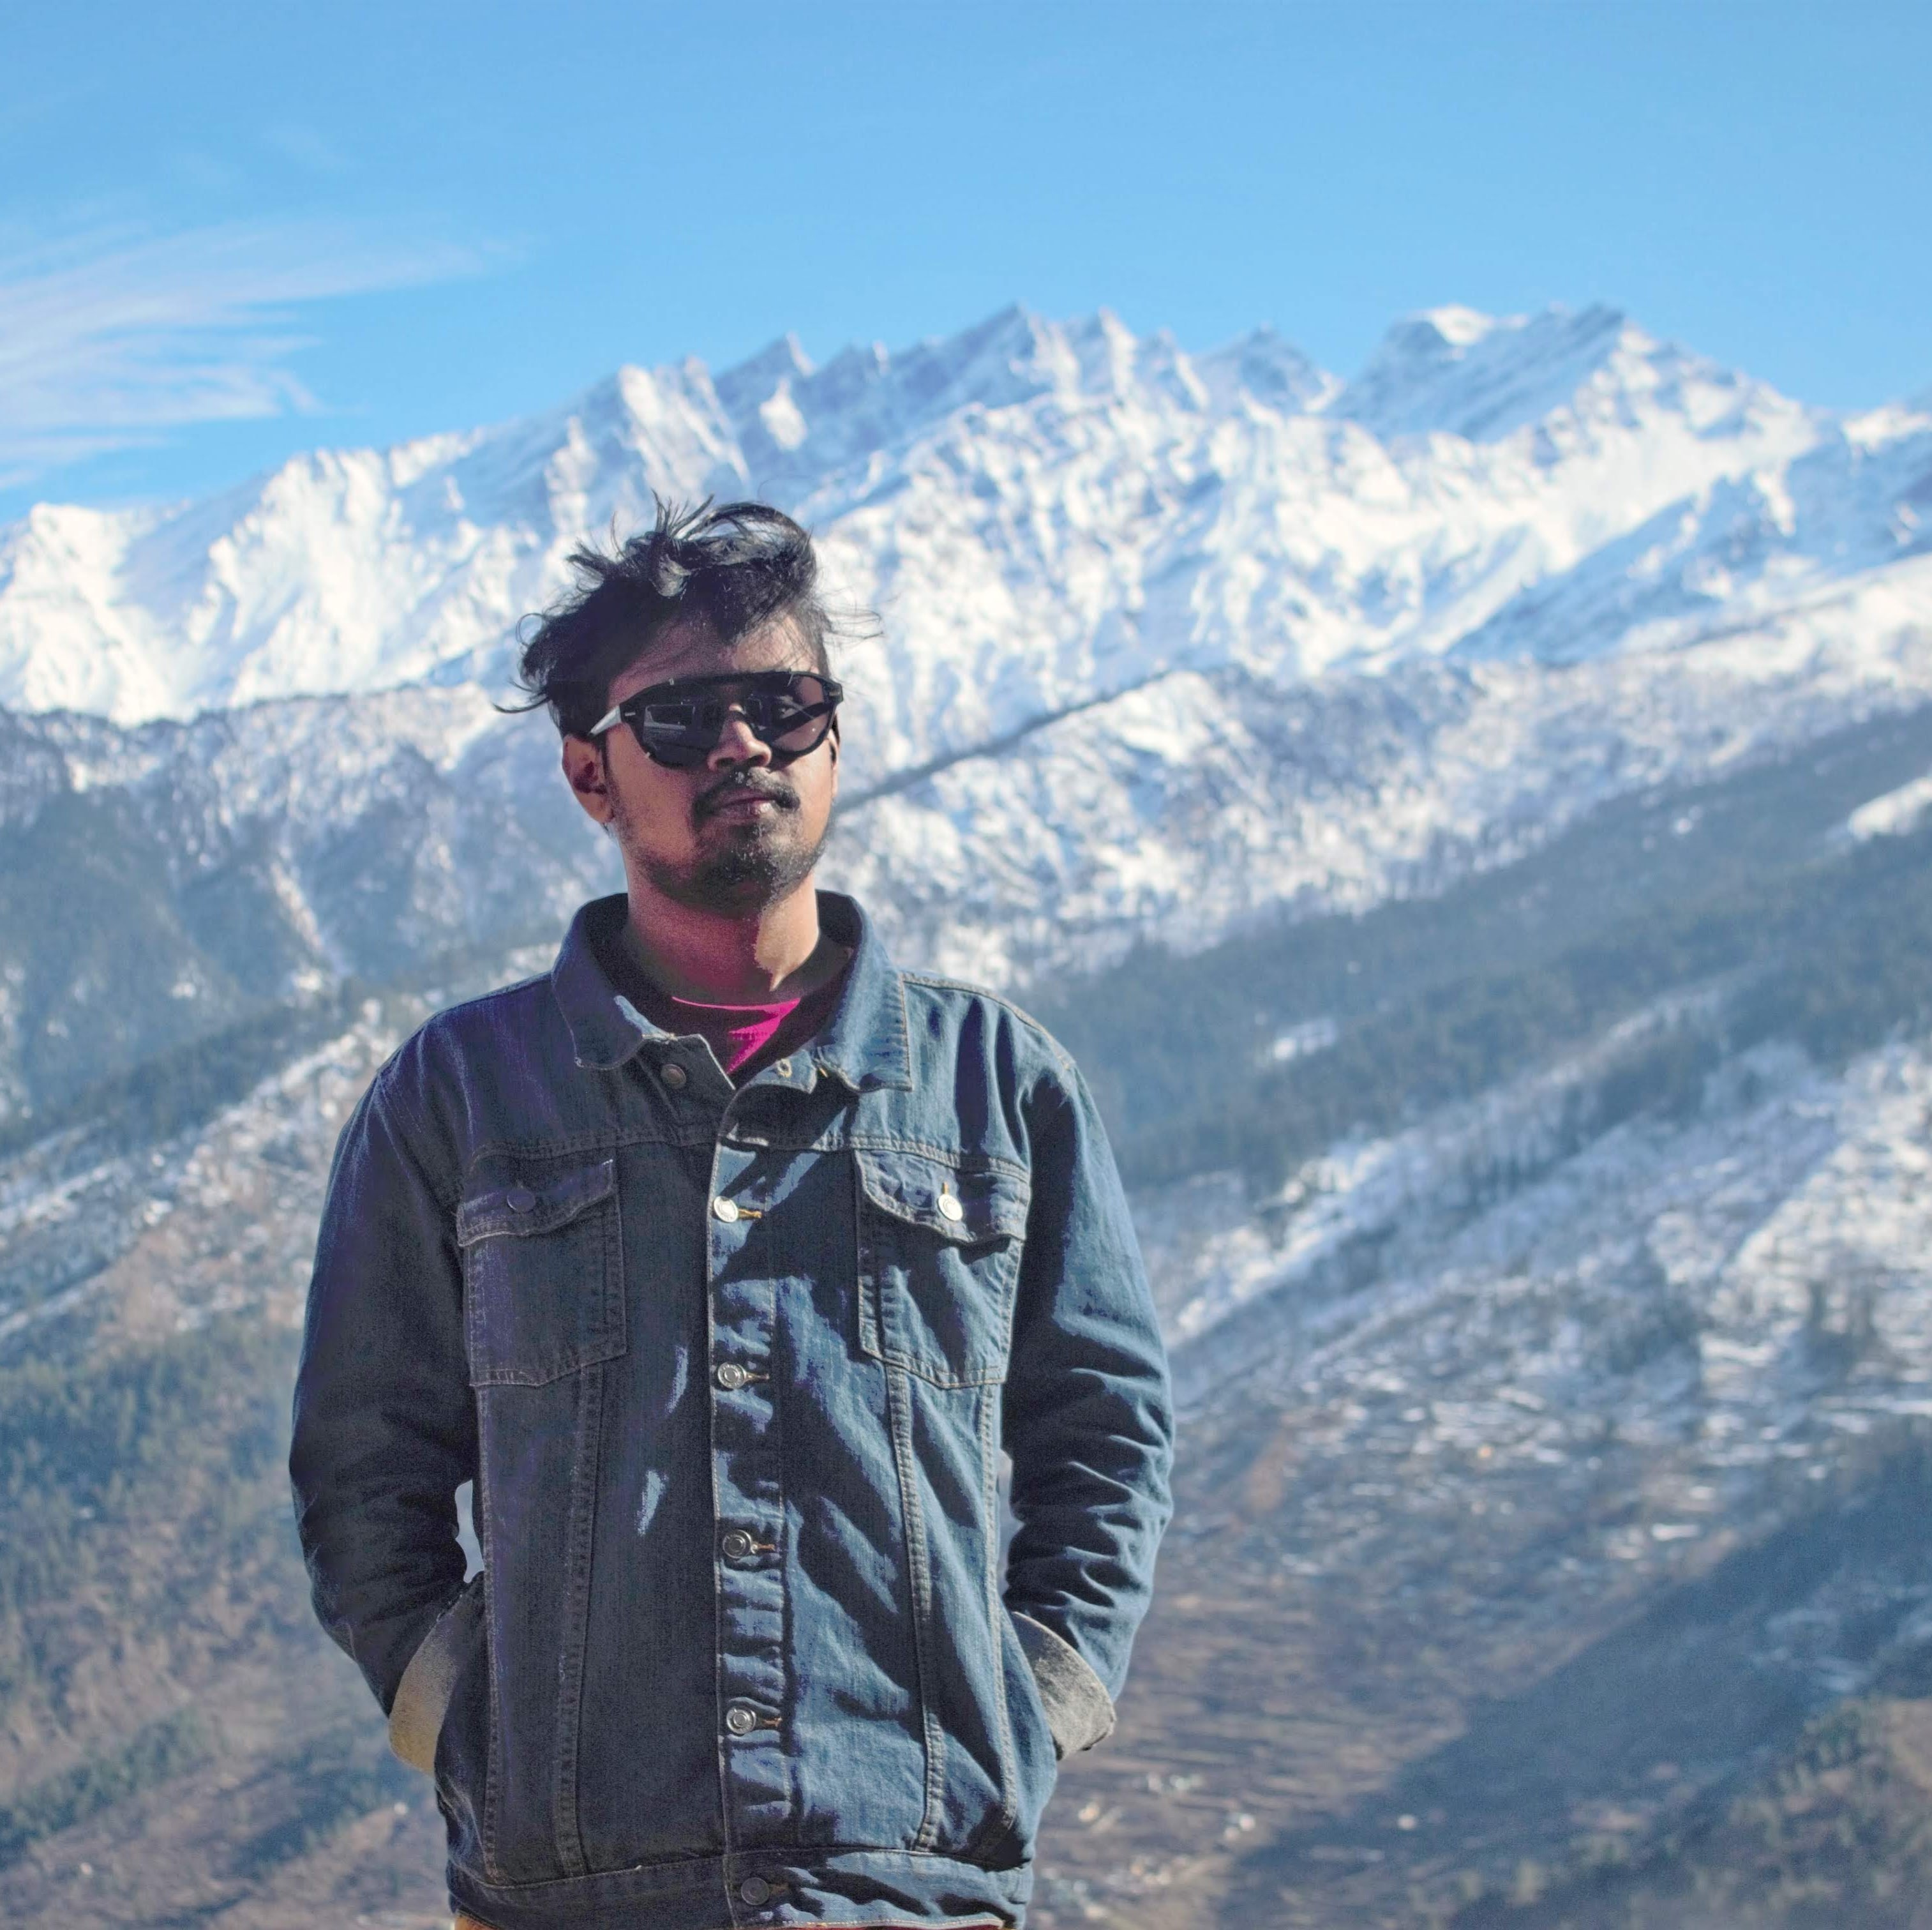
[[[624,1352],[614,1159],[473,1194],[456,1244],[473,1387],[541,1387]]]

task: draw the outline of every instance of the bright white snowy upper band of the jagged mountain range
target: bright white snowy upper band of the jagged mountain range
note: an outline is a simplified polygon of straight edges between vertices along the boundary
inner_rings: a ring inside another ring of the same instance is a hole
[[[37,508],[0,537],[0,703],[137,723],[500,678],[585,535],[653,489],[753,493],[887,616],[860,682],[904,765],[1175,668],[1611,649],[1563,603],[1538,622],[1538,587],[1602,558],[1721,605],[1741,518],[1781,558],[1772,591],[1882,568],[1926,545],[1928,435],[1905,408],[1806,410],[1602,307],[1439,309],[1349,384],[1269,330],[1190,357],[1105,313],[1010,309],[823,369],[784,340],[207,502]]]

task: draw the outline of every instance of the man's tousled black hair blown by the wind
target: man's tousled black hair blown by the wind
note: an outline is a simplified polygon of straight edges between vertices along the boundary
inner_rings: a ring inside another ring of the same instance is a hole
[[[564,736],[587,736],[611,707],[611,682],[674,622],[699,620],[721,643],[784,616],[811,665],[831,674],[835,622],[817,593],[811,537],[767,502],[657,502],[657,524],[611,554],[570,556],[576,587],[524,618],[516,680],[524,709],[549,705]]]

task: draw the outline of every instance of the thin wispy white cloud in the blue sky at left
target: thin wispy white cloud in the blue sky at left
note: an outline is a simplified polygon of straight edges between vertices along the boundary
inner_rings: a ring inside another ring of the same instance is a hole
[[[0,234],[0,487],[189,423],[313,410],[307,303],[477,274],[483,251],[342,222]]]

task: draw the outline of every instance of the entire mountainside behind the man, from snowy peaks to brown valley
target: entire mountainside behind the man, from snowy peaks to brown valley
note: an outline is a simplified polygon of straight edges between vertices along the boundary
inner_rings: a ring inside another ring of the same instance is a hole
[[[493,697],[653,491],[784,502],[879,612],[831,877],[1076,1051],[1175,1343],[1043,1930],[1474,1930],[1932,1654],[1926,398],[1609,309],[1349,383],[1107,315],[784,340],[0,531],[14,1916],[446,1922],[298,1600],[288,1327],[371,1068],[614,885]]]

